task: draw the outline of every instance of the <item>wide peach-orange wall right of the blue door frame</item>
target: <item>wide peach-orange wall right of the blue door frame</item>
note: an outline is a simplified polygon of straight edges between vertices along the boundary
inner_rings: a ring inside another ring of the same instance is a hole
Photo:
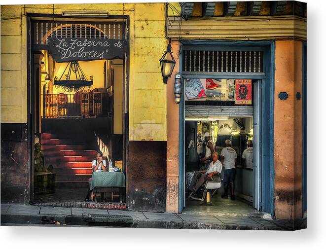
[[[301,217],[302,190],[302,92],[301,41],[276,41],[274,164],[275,216]],[[280,92],[289,98],[279,99]]]

